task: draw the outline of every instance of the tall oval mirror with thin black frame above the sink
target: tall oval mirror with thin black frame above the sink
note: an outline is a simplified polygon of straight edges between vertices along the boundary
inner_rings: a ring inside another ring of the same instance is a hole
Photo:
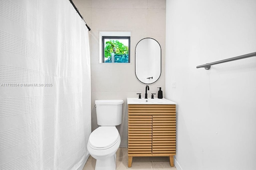
[[[144,38],[135,48],[135,74],[144,84],[152,84],[161,75],[161,47],[152,38]]]

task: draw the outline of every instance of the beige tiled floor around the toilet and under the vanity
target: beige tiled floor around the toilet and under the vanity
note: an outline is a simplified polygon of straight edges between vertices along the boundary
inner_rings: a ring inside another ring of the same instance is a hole
[[[128,168],[127,148],[116,152],[116,170],[177,170],[170,166],[169,157],[133,157],[132,167]],[[83,170],[94,170],[96,160],[90,156]]]

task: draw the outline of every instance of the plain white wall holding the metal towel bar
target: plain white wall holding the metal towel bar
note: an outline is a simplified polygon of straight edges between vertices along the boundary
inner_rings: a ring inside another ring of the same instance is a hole
[[[166,98],[178,103],[178,169],[256,169],[256,57],[196,68],[256,52],[255,7],[255,0],[166,1]]]

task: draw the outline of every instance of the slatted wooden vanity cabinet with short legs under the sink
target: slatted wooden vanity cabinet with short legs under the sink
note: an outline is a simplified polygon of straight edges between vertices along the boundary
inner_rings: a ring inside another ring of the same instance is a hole
[[[128,167],[133,156],[176,155],[176,105],[128,105]]]

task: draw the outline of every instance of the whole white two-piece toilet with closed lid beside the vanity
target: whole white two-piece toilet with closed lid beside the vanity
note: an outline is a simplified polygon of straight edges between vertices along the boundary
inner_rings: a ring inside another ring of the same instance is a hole
[[[123,100],[95,100],[97,124],[88,140],[87,149],[96,159],[95,170],[115,170],[116,151],[120,135],[116,129],[122,123]]]

